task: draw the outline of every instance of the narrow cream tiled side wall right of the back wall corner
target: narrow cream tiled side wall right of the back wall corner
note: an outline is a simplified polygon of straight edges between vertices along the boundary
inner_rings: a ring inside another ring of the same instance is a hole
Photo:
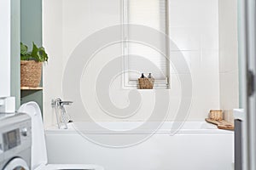
[[[236,14],[236,1],[219,1],[219,85],[220,107],[224,111],[239,107]]]

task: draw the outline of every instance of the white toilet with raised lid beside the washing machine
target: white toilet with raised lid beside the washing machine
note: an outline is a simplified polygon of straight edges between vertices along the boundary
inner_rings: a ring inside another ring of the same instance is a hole
[[[97,165],[48,164],[44,125],[38,104],[36,102],[23,104],[19,112],[26,113],[32,118],[32,170],[103,170],[103,167]]]

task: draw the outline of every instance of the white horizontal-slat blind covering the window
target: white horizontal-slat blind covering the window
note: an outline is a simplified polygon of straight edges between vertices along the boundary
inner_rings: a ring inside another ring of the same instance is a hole
[[[166,0],[127,0],[126,6],[127,23],[149,26],[166,33]],[[132,32],[128,28],[128,40],[131,34]],[[155,42],[166,48],[166,42],[160,41],[160,38],[156,38]],[[151,61],[151,64],[147,65],[144,59],[128,57],[128,69],[138,71],[137,73],[130,72],[129,80],[137,80],[141,73],[145,73],[145,76],[148,76],[148,73],[152,73],[153,77],[158,80],[166,79],[168,61],[165,56],[142,43],[128,42],[126,47],[128,56],[139,55]],[[156,67],[152,67],[152,64]]]

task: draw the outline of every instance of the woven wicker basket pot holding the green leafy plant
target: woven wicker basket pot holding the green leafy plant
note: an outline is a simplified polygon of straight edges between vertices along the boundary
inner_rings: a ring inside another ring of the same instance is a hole
[[[37,88],[41,82],[42,62],[20,61],[20,87]]]

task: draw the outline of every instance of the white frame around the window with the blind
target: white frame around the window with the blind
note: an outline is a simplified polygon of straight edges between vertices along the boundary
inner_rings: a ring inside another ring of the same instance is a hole
[[[129,73],[125,71],[129,71],[129,59],[125,57],[128,54],[128,28],[125,24],[128,23],[128,1],[129,0],[122,0],[122,10],[121,10],[121,23],[122,23],[122,55],[123,57],[123,81],[122,85],[123,88],[137,88],[138,87],[138,80],[130,79]],[[165,0],[166,2],[166,35],[169,37],[169,0]],[[165,79],[155,79],[154,80],[154,88],[158,89],[169,89],[170,88],[170,42],[169,38],[166,38],[166,78]]]

